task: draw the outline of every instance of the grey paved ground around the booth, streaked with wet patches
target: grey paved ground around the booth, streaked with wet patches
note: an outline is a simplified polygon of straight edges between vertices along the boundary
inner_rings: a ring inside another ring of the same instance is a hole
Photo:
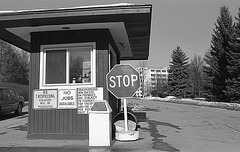
[[[0,117],[0,152],[239,152],[240,112],[225,109],[131,99],[144,106],[140,139],[115,141],[111,147],[89,147],[88,141],[29,140],[27,109],[23,116]]]

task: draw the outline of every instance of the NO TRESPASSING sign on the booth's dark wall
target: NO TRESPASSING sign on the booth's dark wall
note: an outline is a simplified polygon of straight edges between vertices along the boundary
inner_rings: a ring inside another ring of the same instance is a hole
[[[57,90],[33,90],[33,109],[57,108]]]

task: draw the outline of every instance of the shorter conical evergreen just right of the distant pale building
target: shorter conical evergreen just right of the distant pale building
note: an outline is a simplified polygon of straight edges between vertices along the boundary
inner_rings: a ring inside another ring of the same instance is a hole
[[[168,75],[169,95],[178,98],[190,96],[188,59],[179,46],[173,50]]]

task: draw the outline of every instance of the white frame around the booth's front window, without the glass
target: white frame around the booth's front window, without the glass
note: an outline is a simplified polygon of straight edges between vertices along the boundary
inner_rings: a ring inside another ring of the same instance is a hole
[[[91,83],[69,83],[69,49],[91,47]],[[46,52],[54,50],[66,50],[66,83],[59,84],[46,84]],[[66,89],[66,88],[81,88],[81,87],[96,87],[96,43],[67,43],[67,44],[50,44],[41,45],[40,50],[40,77],[39,77],[40,89]]]

